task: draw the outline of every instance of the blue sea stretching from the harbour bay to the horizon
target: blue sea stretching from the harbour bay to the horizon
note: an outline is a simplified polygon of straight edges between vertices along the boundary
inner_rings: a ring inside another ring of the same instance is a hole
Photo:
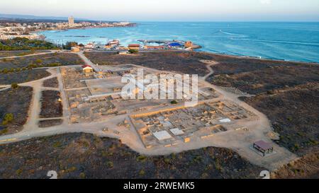
[[[121,45],[137,40],[191,40],[204,52],[237,56],[319,62],[319,23],[138,22],[132,28],[87,28],[45,31],[47,39],[62,42]]]

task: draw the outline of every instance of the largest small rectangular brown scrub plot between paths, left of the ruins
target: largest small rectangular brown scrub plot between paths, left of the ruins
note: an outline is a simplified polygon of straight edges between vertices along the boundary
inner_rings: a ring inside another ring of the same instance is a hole
[[[60,92],[57,90],[43,90],[41,98],[41,118],[62,117],[62,103],[59,101]]]

